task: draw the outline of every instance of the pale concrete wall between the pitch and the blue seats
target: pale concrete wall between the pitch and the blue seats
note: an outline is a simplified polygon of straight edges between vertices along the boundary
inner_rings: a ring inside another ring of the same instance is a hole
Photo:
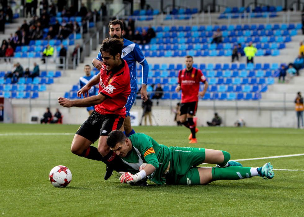
[[[176,103],[175,103],[176,104]],[[172,105],[175,105],[172,104]],[[40,118],[46,110],[46,105],[38,105],[30,107],[28,105],[14,105],[13,106],[13,120],[14,123],[40,123]],[[51,112],[55,113],[55,109],[59,108],[63,115],[64,124],[82,124],[88,117],[85,108],[63,108],[57,105],[51,106]],[[152,113],[154,115],[153,125],[156,125],[155,120],[159,126],[175,126],[173,121],[175,114],[171,106],[153,106]],[[132,112],[137,112],[139,120],[142,115],[141,106],[133,106]],[[293,108],[289,107],[286,111],[283,109],[267,109],[261,110],[251,108],[214,108],[199,106],[196,117],[198,118],[198,126],[206,126],[206,121],[211,121],[217,112],[222,117],[223,126],[234,126],[234,123],[239,119],[244,119],[248,127],[289,127],[297,126],[296,113]],[[38,122],[31,122],[31,117],[38,117]],[[143,122],[144,124],[144,122]],[[149,124],[149,122],[148,122]]]

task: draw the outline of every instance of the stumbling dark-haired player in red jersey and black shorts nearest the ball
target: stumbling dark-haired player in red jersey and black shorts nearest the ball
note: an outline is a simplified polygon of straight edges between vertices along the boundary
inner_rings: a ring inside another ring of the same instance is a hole
[[[113,169],[125,171],[121,158],[111,151],[106,143],[108,134],[123,127],[126,116],[125,104],[131,93],[130,72],[128,64],[121,59],[123,41],[117,38],[107,38],[102,42],[100,52],[103,65],[100,77],[92,79],[77,92],[84,99],[69,100],[58,98],[58,103],[64,107],[89,107],[95,105],[95,111],[80,126],[72,141],[72,153],[88,159],[102,161],[107,165],[105,180],[110,178]],[[99,94],[89,96],[88,91],[99,83]],[[96,140],[98,148],[92,146]]]

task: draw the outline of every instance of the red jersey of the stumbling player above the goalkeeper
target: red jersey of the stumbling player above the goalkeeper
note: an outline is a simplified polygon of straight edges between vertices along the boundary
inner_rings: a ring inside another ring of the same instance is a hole
[[[105,65],[100,70],[99,94],[107,98],[101,104],[95,105],[96,112],[100,114],[126,115],[125,104],[131,93],[130,71],[128,64],[122,64],[114,71],[108,71]],[[114,74],[113,74],[114,73]]]

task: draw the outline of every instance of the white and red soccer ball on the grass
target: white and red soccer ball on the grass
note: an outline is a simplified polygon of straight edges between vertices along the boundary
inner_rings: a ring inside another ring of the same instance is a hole
[[[66,187],[72,180],[72,173],[66,166],[55,166],[50,172],[49,179],[55,187]]]

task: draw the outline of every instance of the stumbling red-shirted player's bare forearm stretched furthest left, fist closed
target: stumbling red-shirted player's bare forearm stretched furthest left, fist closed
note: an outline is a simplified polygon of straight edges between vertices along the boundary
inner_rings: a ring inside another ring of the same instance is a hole
[[[106,100],[107,98],[102,95],[102,94],[98,94],[96,96],[90,96],[87,97],[85,99],[81,99],[81,100],[69,100],[67,98],[64,97],[59,97],[58,98],[58,103],[63,106],[63,107],[89,107],[89,106],[94,106],[94,105],[98,105],[101,104],[104,100]]]

